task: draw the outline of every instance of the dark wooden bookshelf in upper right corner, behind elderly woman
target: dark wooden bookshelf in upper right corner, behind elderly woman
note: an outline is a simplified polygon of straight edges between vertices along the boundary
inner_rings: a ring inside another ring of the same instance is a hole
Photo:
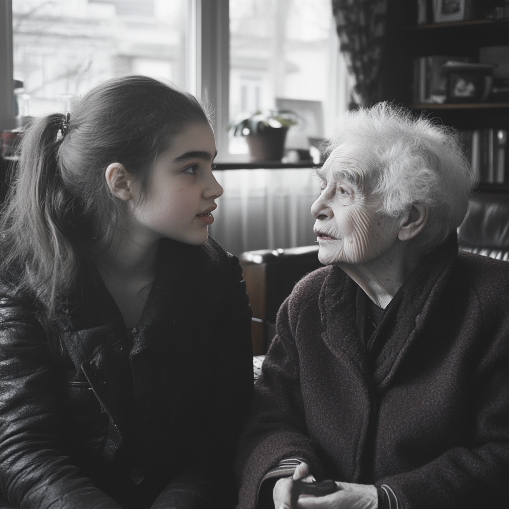
[[[477,0],[477,7],[485,7],[483,2],[486,0]],[[415,59],[457,55],[466,57],[471,62],[478,62],[479,48],[509,46],[509,19],[472,19],[417,25],[417,0],[389,0],[386,38],[381,69],[381,100],[405,105],[417,114],[422,113],[437,123],[460,131],[475,132],[475,143],[479,143],[478,139],[485,140],[489,136],[490,140],[500,139],[498,136],[502,135],[502,132],[509,133],[509,100],[506,102],[505,96],[496,102],[440,104],[416,101],[416,95],[418,99],[419,94],[414,94]],[[497,146],[496,141],[480,143],[492,143],[492,149],[489,150],[495,152],[493,147]],[[484,151],[485,146],[480,150]],[[479,190],[509,193],[509,140],[504,150],[503,182],[500,182],[500,171],[497,173],[496,168],[490,167],[489,173],[483,169],[483,164],[486,165],[489,159],[486,156],[484,163],[483,159],[480,159],[482,171],[479,171]],[[501,154],[500,151],[497,153]],[[478,151],[476,154],[478,155]],[[489,164],[493,164],[493,160],[494,156],[491,154]]]

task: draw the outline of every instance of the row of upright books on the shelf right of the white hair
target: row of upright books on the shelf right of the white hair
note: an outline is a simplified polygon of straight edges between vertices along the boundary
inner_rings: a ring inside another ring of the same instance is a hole
[[[509,182],[509,150],[505,129],[458,131],[457,136],[479,183]]]

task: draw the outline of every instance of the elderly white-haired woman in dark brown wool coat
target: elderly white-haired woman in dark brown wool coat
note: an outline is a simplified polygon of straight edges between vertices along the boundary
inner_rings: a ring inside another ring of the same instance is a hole
[[[509,264],[458,252],[468,163],[387,104],[347,114],[335,147],[311,210],[327,267],[279,310],[239,507],[288,509],[292,473],[338,490],[299,509],[507,507]]]

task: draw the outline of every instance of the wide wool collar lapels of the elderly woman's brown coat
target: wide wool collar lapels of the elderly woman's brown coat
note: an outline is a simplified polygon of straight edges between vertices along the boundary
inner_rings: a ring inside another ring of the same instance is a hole
[[[386,388],[409,346],[421,333],[448,280],[458,254],[456,232],[428,253],[387,306],[373,338],[379,348],[375,372],[367,365],[364,339],[355,327],[357,284],[340,268],[331,267],[319,297],[322,337],[336,356],[345,356],[364,379]]]

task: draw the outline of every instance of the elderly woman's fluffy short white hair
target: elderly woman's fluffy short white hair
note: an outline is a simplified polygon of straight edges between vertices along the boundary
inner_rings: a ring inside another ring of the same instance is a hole
[[[428,249],[461,224],[475,177],[453,129],[383,102],[338,119],[328,152],[343,143],[373,154],[378,173],[373,192],[382,200],[383,213],[398,217],[413,203],[428,206],[428,224],[418,236]]]

